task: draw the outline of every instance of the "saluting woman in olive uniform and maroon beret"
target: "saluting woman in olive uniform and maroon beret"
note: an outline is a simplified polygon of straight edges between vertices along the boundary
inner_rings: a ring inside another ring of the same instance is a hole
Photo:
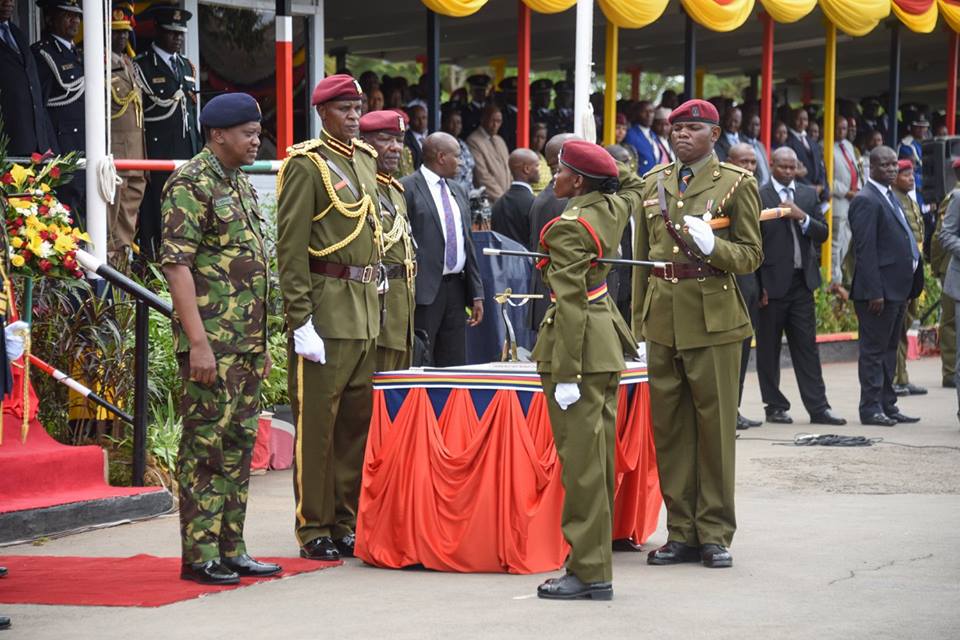
[[[540,585],[541,598],[613,597],[617,387],[623,354],[636,354],[636,340],[607,295],[610,265],[596,259],[617,255],[641,186],[602,147],[564,143],[554,192],[570,199],[540,233],[540,251],[550,257],[537,266],[553,304],[532,358],[563,463],[562,527],[571,549],[566,573]]]

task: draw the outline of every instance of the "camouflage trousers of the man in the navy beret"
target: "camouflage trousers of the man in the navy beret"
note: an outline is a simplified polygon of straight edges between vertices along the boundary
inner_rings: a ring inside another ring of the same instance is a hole
[[[183,561],[242,555],[247,552],[243,522],[266,356],[217,354],[213,386],[188,380],[189,355],[178,358],[186,381],[178,408],[183,436],[177,462]]]

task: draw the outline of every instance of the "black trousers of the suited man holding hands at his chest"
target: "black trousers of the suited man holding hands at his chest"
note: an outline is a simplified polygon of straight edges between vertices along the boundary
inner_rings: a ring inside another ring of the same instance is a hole
[[[817,348],[817,317],[813,292],[807,288],[802,269],[795,269],[783,298],[770,300],[760,309],[757,327],[757,376],[767,413],[787,411],[790,401],[780,392],[780,349],[783,335],[793,360],[800,399],[811,416],[830,408],[827,403],[820,351]],[[894,363],[896,364],[896,363]]]

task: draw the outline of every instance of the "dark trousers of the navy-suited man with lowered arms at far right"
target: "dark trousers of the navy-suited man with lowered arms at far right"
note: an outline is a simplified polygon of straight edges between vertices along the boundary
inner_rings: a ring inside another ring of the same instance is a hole
[[[854,300],[860,322],[860,418],[896,413],[893,377],[897,371],[897,345],[903,327],[905,301],[884,300],[880,315],[870,313],[866,300]]]

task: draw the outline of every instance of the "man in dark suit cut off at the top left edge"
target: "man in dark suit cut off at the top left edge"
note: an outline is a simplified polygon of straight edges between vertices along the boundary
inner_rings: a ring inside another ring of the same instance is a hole
[[[15,0],[0,0],[0,113],[3,132],[10,137],[7,153],[58,151],[30,42],[10,21],[16,5]]]

